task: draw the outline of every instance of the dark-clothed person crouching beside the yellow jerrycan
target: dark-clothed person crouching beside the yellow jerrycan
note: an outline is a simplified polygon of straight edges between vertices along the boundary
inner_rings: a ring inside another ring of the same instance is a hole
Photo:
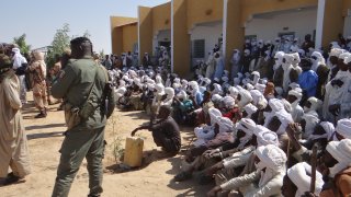
[[[181,138],[179,126],[170,115],[171,108],[162,105],[157,116],[159,120],[134,129],[132,136],[135,136],[138,130],[148,129],[152,132],[154,141],[158,147],[162,147],[166,152],[177,154],[181,148]]]

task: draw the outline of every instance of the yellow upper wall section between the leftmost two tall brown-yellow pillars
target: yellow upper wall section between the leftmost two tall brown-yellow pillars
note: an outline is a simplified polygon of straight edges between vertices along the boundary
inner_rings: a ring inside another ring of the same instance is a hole
[[[165,3],[152,8],[152,32],[154,35],[161,30],[171,28],[171,3]]]

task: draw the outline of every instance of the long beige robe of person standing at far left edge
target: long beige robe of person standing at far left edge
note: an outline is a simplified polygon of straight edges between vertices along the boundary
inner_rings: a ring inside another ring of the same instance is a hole
[[[16,76],[0,83],[0,177],[24,177],[31,173],[26,135],[22,123],[20,82]]]

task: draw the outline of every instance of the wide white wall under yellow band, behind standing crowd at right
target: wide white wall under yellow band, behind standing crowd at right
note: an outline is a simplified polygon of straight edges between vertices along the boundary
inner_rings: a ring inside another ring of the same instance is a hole
[[[302,43],[306,34],[313,35],[316,30],[317,8],[295,12],[279,13],[268,19],[252,19],[246,24],[245,35],[257,35],[258,39],[274,40],[279,33],[295,32]],[[288,27],[284,31],[283,27]]]

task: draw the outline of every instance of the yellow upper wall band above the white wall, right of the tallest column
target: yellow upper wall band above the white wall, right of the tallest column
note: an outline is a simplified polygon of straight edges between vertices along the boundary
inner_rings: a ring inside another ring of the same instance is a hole
[[[256,13],[317,7],[317,4],[318,0],[242,0],[241,23],[245,24]]]

